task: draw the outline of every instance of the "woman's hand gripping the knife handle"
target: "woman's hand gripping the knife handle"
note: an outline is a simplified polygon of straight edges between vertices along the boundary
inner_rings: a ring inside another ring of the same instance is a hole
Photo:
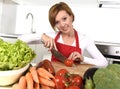
[[[55,48],[55,49],[57,50],[56,44],[55,44],[53,38],[49,37],[49,36],[46,35],[46,34],[43,34],[41,39],[42,39],[42,41],[44,42],[44,46],[45,46],[46,48],[49,48],[49,50],[51,50],[52,48]]]

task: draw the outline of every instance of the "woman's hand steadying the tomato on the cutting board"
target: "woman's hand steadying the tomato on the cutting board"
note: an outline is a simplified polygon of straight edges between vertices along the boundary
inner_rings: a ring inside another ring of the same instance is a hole
[[[68,57],[68,59],[72,59],[73,61],[80,61],[83,62],[84,57],[77,51],[74,51],[70,54],[70,56]]]

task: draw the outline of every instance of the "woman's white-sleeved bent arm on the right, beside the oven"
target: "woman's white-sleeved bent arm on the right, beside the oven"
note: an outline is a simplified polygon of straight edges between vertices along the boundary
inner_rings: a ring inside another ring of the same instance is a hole
[[[87,50],[87,52],[91,55],[91,57],[84,57],[83,62],[88,64],[93,64],[96,66],[107,66],[108,61],[102,55],[102,53],[98,50],[93,40],[88,37],[84,37],[80,40],[80,47],[82,52]]]

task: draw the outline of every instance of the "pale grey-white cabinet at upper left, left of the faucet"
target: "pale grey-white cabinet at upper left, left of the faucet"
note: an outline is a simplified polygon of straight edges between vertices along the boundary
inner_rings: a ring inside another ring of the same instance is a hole
[[[16,24],[16,4],[9,0],[0,2],[0,32],[13,34],[15,33]]]

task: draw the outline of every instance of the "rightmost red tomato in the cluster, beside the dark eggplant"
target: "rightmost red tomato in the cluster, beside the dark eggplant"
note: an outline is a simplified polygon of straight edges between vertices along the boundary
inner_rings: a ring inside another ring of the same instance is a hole
[[[83,84],[83,79],[80,75],[78,74],[72,74],[70,77],[69,77],[69,81],[71,81],[71,84],[70,85],[75,85],[75,86],[79,86],[79,87],[82,87],[82,84]]]

